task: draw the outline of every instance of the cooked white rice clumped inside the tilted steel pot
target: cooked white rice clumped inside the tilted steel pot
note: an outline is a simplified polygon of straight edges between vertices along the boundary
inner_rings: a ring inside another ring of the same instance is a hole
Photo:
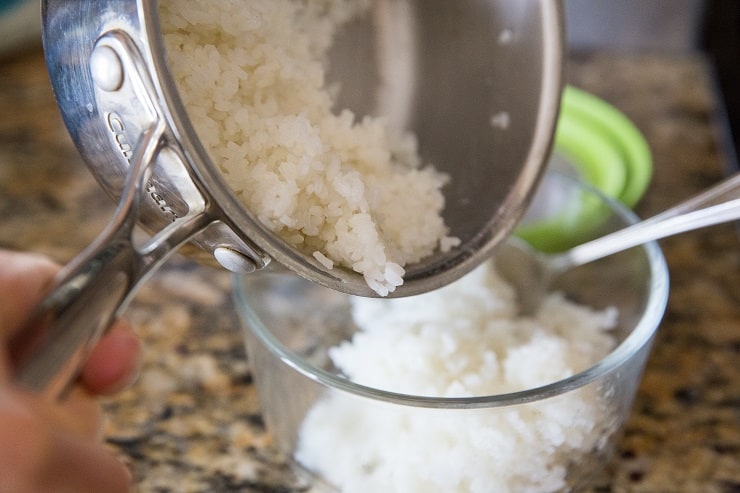
[[[334,112],[325,57],[371,0],[161,0],[171,70],[212,160],[249,210],[327,268],[386,295],[457,243],[445,176],[382,118]]]

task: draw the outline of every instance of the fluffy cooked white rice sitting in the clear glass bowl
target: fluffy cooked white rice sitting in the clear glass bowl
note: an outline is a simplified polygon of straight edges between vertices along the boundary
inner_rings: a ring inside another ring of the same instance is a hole
[[[359,327],[333,348],[354,382],[406,394],[470,397],[538,387],[613,348],[616,311],[551,294],[533,317],[490,264],[422,296],[356,299]],[[595,389],[513,408],[412,409],[330,393],[307,415],[297,460],[342,493],[560,491],[572,461],[615,426]],[[604,429],[606,427],[606,430]]]

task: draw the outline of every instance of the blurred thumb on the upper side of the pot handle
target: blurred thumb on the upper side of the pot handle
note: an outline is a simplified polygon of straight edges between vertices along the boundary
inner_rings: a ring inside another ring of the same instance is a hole
[[[0,266],[0,338],[7,338],[25,321],[59,266],[43,255],[2,249]]]

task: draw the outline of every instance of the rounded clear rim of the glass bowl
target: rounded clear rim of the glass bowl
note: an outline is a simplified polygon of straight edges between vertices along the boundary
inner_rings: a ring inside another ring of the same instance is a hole
[[[559,172],[549,171],[548,173],[559,175],[567,180],[573,180],[579,187],[599,196],[627,224],[639,220],[637,215],[627,209],[621,202],[607,197],[593,186]],[[669,273],[665,257],[657,242],[649,242],[638,248],[645,250],[648,259],[648,265],[650,267],[650,295],[643,316],[640,318],[635,329],[621,344],[595,365],[562,380],[517,392],[475,397],[429,397],[388,392],[354,383],[347,378],[315,367],[284,346],[251,309],[250,302],[248,301],[249,297],[244,291],[242,284],[242,279],[250,274],[234,274],[232,276],[232,285],[236,309],[239,312],[239,316],[242,317],[244,324],[247,325],[247,327],[244,327],[244,330],[250,330],[273,356],[279,358],[285,365],[313,382],[338,391],[403,406],[437,409],[484,409],[540,401],[578,389],[612,372],[618,371],[633,356],[651,343],[655,332],[660,326],[668,303]]]

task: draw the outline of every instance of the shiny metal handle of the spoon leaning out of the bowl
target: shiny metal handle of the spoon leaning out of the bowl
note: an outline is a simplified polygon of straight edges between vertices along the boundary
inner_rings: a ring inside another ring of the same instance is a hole
[[[740,173],[674,207],[556,255],[558,271],[583,265],[644,243],[740,219]]]

